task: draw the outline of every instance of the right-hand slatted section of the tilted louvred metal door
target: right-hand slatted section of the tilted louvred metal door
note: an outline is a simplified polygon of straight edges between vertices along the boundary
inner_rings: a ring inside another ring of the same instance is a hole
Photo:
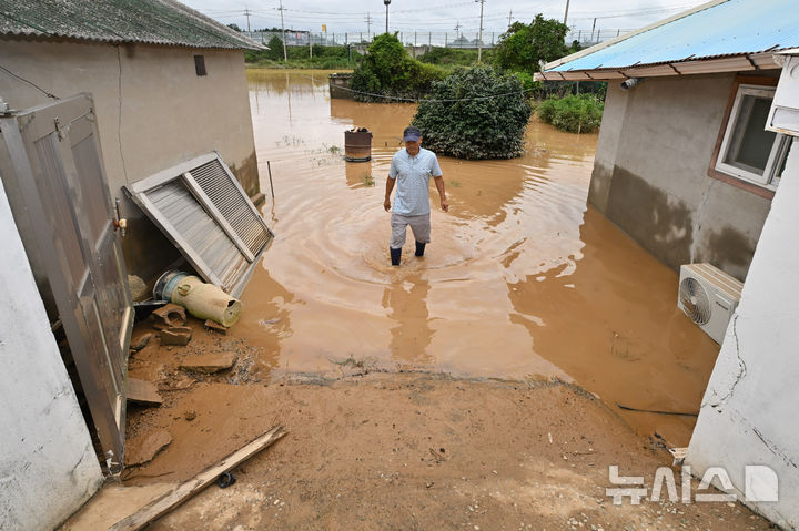
[[[257,214],[250,208],[247,200],[227,178],[220,161],[213,160],[189,173],[227,219],[247,248],[253,254],[257,254],[269,242],[270,234],[259,221]]]

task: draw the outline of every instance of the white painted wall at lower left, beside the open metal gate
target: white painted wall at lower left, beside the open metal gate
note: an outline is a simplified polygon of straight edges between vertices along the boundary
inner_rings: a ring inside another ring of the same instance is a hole
[[[103,481],[0,182],[0,529],[52,529]]]

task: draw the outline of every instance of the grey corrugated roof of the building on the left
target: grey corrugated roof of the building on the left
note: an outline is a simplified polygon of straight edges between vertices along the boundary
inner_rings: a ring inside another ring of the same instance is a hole
[[[264,48],[174,0],[0,0],[0,35]]]

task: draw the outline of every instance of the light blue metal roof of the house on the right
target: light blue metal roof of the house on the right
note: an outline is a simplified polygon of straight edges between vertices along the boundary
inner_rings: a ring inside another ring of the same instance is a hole
[[[546,71],[615,69],[793,47],[799,47],[796,0],[728,0]]]

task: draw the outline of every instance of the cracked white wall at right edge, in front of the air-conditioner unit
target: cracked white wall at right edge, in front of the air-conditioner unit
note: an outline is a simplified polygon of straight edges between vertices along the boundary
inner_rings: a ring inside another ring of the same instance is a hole
[[[724,467],[740,498],[745,467],[779,478],[778,502],[746,502],[799,530],[799,142],[766,218],[741,300],[702,400],[686,462]]]

